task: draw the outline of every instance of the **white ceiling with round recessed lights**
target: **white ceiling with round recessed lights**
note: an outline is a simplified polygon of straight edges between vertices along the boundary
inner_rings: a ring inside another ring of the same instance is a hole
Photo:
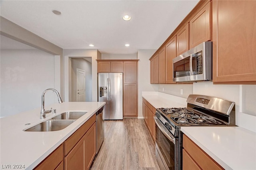
[[[136,54],[159,48],[198,1],[1,0],[0,15],[63,49]],[[125,14],[132,19],[122,20]]]

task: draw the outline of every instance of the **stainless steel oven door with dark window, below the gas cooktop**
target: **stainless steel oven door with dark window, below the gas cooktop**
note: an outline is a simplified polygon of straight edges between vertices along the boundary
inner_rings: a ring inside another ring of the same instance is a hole
[[[156,122],[156,160],[161,170],[178,170],[178,143],[167,128],[154,116]]]

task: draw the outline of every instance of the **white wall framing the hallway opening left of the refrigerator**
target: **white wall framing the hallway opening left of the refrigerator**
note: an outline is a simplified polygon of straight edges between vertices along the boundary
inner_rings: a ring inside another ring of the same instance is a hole
[[[98,101],[97,96],[97,61],[96,59],[102,58],[98,50],[86,50],[86,49],[65,49],[63,50],[64,56],[64,101],[69,102],[72,100],[71,89],[71,58],[92,57],[92,102]],[[98,57],[98,58],[97,58]]]

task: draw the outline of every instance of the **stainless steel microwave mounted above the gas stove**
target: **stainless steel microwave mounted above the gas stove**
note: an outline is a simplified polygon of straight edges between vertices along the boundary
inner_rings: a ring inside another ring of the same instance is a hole
[[[172,60],[173,81],[198,82],[212,80],[212,42],[191,48]]]

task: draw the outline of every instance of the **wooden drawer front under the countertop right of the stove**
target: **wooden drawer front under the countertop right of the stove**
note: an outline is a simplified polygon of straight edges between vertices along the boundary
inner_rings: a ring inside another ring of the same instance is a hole
[[[186,135],[183,135],[183,148],[203,170],[224,170]]]

